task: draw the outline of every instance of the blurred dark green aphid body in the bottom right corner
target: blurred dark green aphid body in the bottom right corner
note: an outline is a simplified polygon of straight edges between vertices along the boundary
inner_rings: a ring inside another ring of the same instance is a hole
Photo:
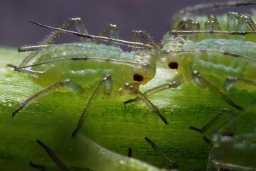
[[[211,162],[216,168],[255,170],[256,134],[222,136],[211,149]]]

